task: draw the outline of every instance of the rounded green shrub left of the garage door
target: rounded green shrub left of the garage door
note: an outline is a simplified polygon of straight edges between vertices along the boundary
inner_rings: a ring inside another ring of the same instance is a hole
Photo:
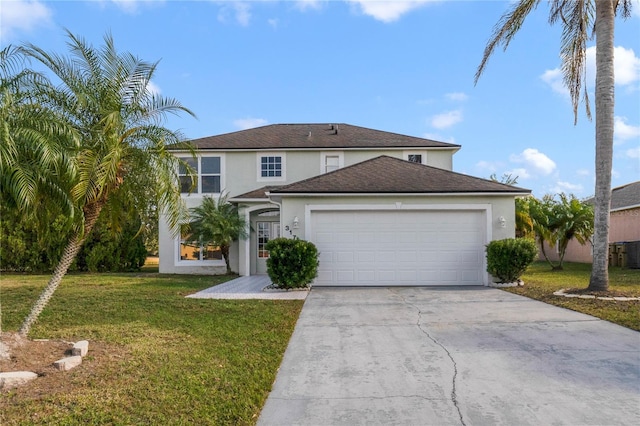
[[[318,249],[313,243],[276,238],[267,243],[266,249],[269,250],[267,274],[276,287],[308,287],[318,275]]]

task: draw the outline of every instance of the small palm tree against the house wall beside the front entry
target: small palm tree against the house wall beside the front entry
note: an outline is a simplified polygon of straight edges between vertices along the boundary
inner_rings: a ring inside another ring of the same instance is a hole
[[[213,197],[204,197],[202,204],[191,209],[191,221],[184,231],[191,233],[197,247],[220,247],[230,274],[229,247],[238,238],[246,238],[248,232],[245,219],[238,214],[236,206],[227,201],[227,195],[221,194],[217,202]]]

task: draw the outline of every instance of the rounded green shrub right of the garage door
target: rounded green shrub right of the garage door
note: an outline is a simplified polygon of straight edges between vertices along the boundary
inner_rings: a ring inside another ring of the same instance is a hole
[[[487,272],[501,283],[517,281],[538,256],[536,243],[529,238],[507,238],[487,245]]]

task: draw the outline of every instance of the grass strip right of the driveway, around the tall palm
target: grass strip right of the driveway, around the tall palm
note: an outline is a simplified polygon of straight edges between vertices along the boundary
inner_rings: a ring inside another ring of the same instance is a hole
[[[640,331],[639,301],[578,299],[553,295],[563,288],[587,288],[590,274],[591,264],[565,263],[564,270],[552,271],[548,263],[536,262],[522,276],[524,286],[505,290]],[[640,297],[640,269],[609,268],[609,290]]]

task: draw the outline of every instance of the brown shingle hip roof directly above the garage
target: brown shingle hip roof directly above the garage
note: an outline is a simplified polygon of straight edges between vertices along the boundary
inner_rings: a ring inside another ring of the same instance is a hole
[[[284,194],[531,193],[528,189],[411,163],[386,155],[271,191]]]

